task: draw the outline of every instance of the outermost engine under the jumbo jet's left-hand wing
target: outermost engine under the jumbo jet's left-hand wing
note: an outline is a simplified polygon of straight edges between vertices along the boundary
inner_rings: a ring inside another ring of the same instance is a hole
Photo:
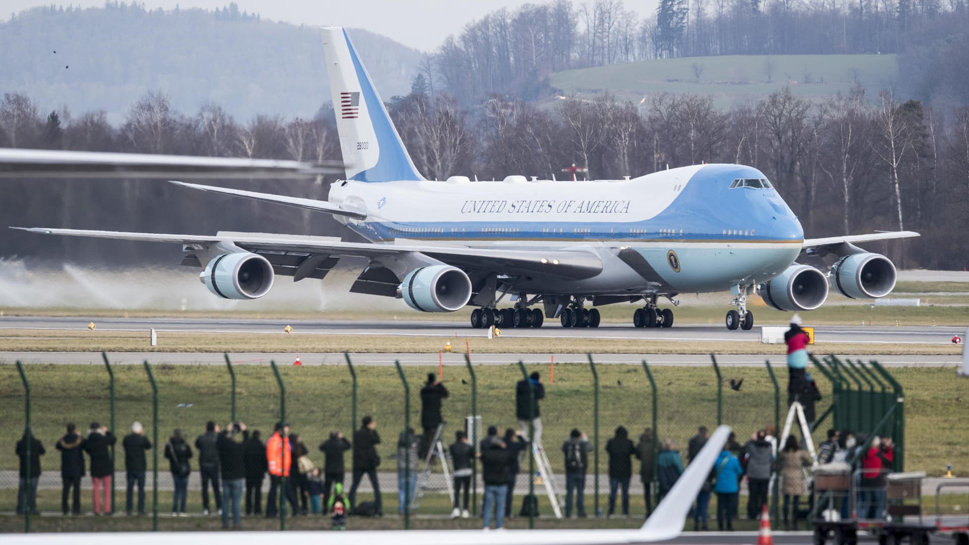
[[[251,252],[216,256],[199,274],[208,291],[223,299],[259,299],[269,292],[273,277],[269,261]]]

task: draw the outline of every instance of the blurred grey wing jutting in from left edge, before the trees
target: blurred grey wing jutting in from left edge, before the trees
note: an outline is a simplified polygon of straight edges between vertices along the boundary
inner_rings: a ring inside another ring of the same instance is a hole
[[[307,178],[344,173],[341,161],[282,161],[0,148],[0,177]]]

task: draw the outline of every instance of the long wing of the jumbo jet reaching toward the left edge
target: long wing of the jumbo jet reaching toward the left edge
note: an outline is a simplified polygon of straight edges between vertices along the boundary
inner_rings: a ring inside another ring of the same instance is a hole
[[[156,233],[125,233],[118,231],[90,231],[83,229],[46,229],[13,227],[30,233],[88,237],[95,239],[140,240],[173,242],[204,247],[217,242],[233,242],[253,252],[301,252],[340,257],[376,258],[381,256],[422,253],[443,263],[462,269],[488,269],[508,274],[540,276],[550,279],[580,280],[602,272],[603,263],[594,252],[583,249],[510,250],[471,248],[467,246],[433,246],[411,244],[377,244],[346,242],[326,237],[290,237],[286,235],[231,234],[220,236],[166,235]]]

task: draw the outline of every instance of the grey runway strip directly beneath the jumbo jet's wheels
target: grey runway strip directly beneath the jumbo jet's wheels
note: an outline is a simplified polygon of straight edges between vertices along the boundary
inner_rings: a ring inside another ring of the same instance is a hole
[[[89,320],[78,317],[4,316],[3,330],[81,331]],[[485,330],[472,329],[465,322],[424,320],[260,320],[228,318],[98,318],[99,331],[209,334],[282,334],[291,326],[296,335],[394,336],[394,337],[486,337]],[[783,325],[783,324],[771,324]],[[808,324],[809,325],[809,324]],[[818,326],[819,342],[861,344],[951,344],[965,328],[912,326]],[[728,331],[723,325],[673,325],[670,329],[636,329],[632,324],[603,324],[595,329],[563,328],[548,321],[542,328],[504,328],[502,337],[514,338],[605,338],[697,342],[757,342],[761,327],[751,331]],[[769,350],[768,350],[769,352]]]

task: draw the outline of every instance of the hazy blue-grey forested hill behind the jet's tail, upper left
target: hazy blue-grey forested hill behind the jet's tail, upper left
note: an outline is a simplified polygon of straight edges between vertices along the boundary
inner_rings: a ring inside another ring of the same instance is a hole
[[[381,96],[406,94],[420,51],[365,30],[348,33]],[[0,92],[23,92],[44,111],[105,110],[115,122],[148,90],[165,92],[182,112],[212,101],[239,119],[311,116],[329,100],[325,64],[315,27],[234,5],[164,12],[108,2],[35,8],[0,22]]]

